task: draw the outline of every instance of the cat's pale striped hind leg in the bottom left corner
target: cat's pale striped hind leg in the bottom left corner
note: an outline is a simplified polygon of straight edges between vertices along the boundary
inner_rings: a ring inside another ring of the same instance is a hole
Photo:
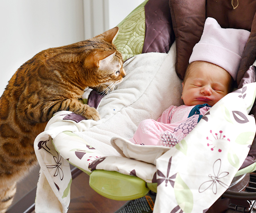
[[[8,207],[13,202],[16,193],[16,183],[8,187],[3,186],[0,188],[0,213],[5,213]]]

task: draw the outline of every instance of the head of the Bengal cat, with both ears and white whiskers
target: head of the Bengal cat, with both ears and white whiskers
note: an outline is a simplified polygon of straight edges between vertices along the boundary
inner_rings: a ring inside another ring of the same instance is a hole
[[[93,70],[94,85],[91,88],[99,92],[108,93],[123,81],[126,73],[123,68],[123,58],[121,53],[113,45],[118,27],[110,29],[103,34],[89,39],[90,42],[98,44],[90,54],[85,57],[84,66],[89,70]]]

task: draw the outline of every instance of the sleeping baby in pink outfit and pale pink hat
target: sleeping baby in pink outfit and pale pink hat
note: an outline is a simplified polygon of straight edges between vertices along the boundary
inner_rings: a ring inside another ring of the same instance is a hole
[[[173,147],[197,125],[211,106],[232,91],[250,32],[221,28],[207,18],[182,83],[184,105],[170,106],[156,121],[143,120],[129,141]]]

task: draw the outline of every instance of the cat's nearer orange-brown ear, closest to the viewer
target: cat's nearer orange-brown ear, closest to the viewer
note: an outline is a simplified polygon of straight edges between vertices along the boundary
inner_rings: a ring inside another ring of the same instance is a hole
[[[93,51],[84,60],[84,65],[87,67],[100,67],[100,62],[107,57],[114,55],[115,51]]]

